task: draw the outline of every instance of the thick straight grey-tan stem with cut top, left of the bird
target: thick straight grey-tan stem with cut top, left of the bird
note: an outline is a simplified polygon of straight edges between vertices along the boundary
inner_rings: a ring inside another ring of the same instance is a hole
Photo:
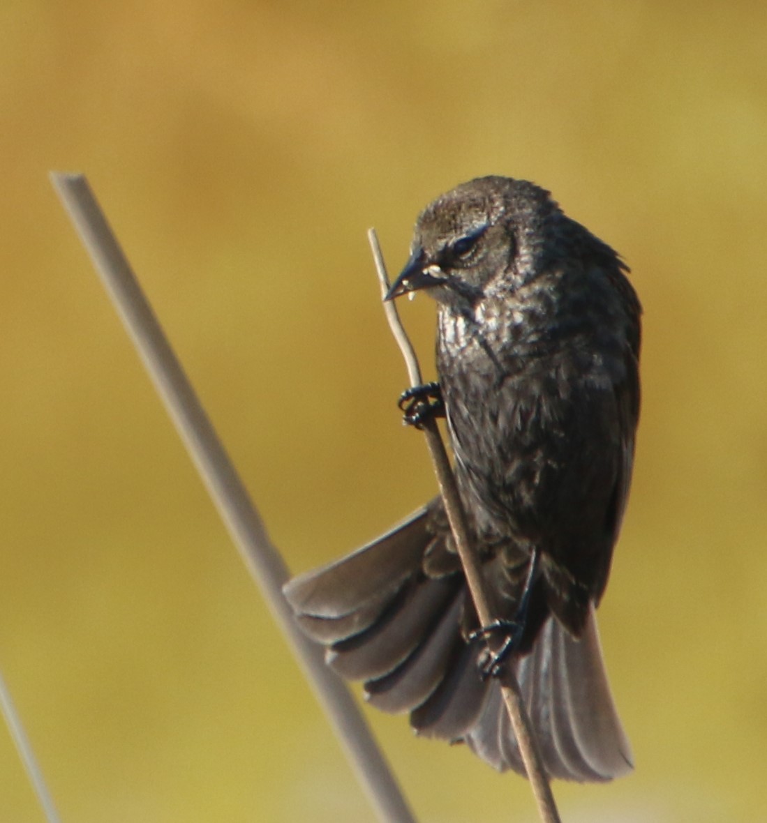
[[[101,282],[175,423],[208,493],[330,718],[355,774],[381,821],[414,821],[395,777],[347,688],[325,666],[320,647],[298,629],[283,597],[288,570],[138,285],[82,174],[52,174],[54,188]]]

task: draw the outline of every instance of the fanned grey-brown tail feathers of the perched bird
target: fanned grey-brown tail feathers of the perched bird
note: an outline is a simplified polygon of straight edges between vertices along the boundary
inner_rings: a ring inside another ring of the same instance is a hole
[[[497,680],[479,676],[479,642],[461,620],[463,575],[430,558],[447,556],[447,533],[430,504],[375,542],[284,588],[297,621],[328,647],[339,674],[363,680],[367,700],[410,712],[424,737],[465,742],[498,770],[525,774]],[[513,658],[517,680],[552,778],[599,782],[632,769],[615,711],[592,608],[573,639],[553,616],[530,653]]]

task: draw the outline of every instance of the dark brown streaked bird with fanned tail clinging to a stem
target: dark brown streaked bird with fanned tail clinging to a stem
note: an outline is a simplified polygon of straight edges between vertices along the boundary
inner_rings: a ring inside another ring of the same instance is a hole
[[[525,774],[499,677],[510,667],[551,779],[634,768],[596,626],[629,494],[642,308],[609,245],[522,179],[472,179],[418,217],[387,299],[437,304],[438,381],[405,421],[443,415],[493,595],[479,625],[442,500],[286,584],[298,624],[366,699],[414,731]],[[484,637],[506,633],[488,665]]]

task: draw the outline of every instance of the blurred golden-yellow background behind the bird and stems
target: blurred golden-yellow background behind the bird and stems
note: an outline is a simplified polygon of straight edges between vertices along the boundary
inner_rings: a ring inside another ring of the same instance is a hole
[[[550,188],[645,308],[601,608],[634,775],[566,821],[767,820],[767,7],[0,5],[0,667],[64,821],[367,821],[49,185],[86,172],[292,570],[433,495],[377,300],[419,209]],[[432,369],[433,305],[405,308]],[[526,784],[368,713],[422,821]],[[40,821],[0,732],[0,821]]]

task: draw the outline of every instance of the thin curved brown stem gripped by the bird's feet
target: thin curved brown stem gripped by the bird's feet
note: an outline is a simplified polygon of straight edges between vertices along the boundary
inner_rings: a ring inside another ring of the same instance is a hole
[[[376,272],[378,273],[378,280],[381,285],[381,296],[383,296],[389,291],[389,278],[386,275],[386,267],[375,229],[367,232],[367,239],[370,241],[373,259],[376,262]],[[384,303],[384,310],[386,311],[386,319],[389,321],[391,332],[399,344],[402,356],[405,359],[410,382],[414,386],[419,385],[422,380],[418,358],[415,355],[413,346],[410,344],[405,329],[402,327],[400,315],[397,312],[394,301],[387,300]],[[492,625],[494,622],[492,592],[484,579],[479,558],[470,540],[469,529],[466,526],[466,515],[463,504],[461,503],[461,496],[458,493],[458,487],[456,486],[456,478],[453,475],[450,460],[447,457],[447,451],[442,442],[442,436],[439,434],[437,423],[433,418],[427,418],[423,425],[423,433],[426,435],[428,449],[432,455],[434,472],[437,475],[437,482],[439,483],[442,500],[445,504],[447,518],[450,521],[450,527],[456,541],[458,556],[461,558],[466,583],[469,586],[471,598],[477,610],[479,624]],[[524,700],[522,700],[517,678],[514,677],[510,667],[505,667],[504,669],[501,681],[501,693],[503,694],[503,702],[506,704],[509,719],[512,722],[514,734],[517,736],[519,751],[522,761],[525,764],[528,779],[530,779],[535,801],[538,804],[540,819],[544,821],[544,823],[559,823],[559,812],[554,802],[554,795],[551,793],[549,779],[546,777],[543,768],[538,742],[535,740],[535,733],[533,732],[532,723],[527,714]]]

